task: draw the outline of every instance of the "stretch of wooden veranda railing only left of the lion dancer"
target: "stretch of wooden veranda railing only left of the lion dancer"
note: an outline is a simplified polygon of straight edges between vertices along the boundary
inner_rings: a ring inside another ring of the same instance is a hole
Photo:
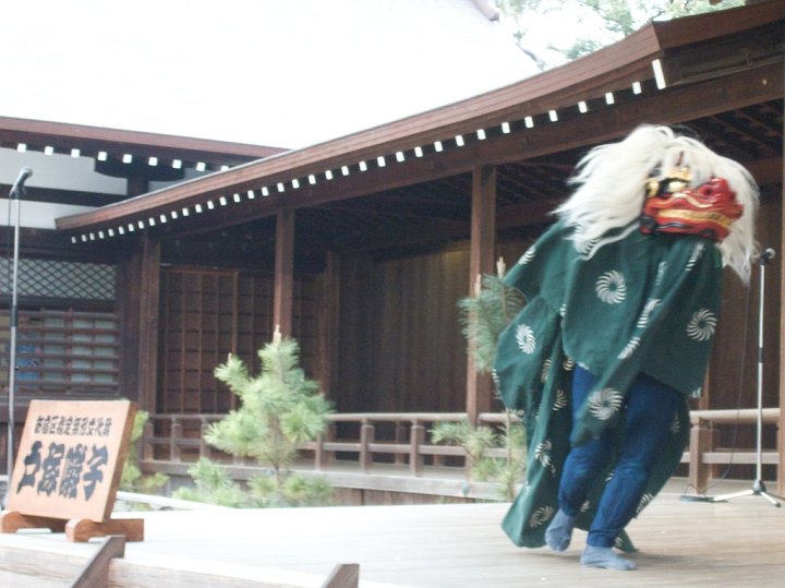
[[[243,464],[243,459],[222,454],[204,441],[206,429],[221,418],[220,415],[152,415],[145,425],[143,460],[180,464],[208,457]],[[300,449],[303,457],[311,456],[316,470],[327,469],[336,460],[354,463],[363,473],[370,472],[375,463],[408,466],[409,475],[414,477],[422,476],[426,463],[461,469],[467,458],[463,447],[428,443],[427,432],[436,422],[466,419],[466,412],[334,413],[329,417],[327,433],[303,443]],[[502,427],[504,421],[503,413],[480,416],[482,424]],[[387,439],[377,439],[379,428],[385,429]],[[486,455],[504,457],[506,451],[488,449]],[[457,459],[450,463],[447,457]]]

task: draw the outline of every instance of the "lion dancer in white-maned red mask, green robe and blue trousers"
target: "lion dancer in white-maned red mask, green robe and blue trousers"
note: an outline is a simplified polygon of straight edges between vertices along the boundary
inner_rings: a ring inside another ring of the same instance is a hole
[[[592,149],[558,220],[505,277],[527,303],[499,338],[494,381],[523,411],[527,482],[503,527],[518,545],[633,569],[625,527],[662,489],[689,435],[721,305],[746,283],[758,188],[667,127]]]

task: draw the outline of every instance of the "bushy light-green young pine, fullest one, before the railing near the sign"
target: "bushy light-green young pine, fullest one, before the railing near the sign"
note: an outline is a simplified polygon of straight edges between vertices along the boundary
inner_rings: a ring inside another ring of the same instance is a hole
[[[229,356],[215,369],[241,401],[205,434],[207,443],[228,454],[252,457],[266,475],[249,481],[252,506],[297,506],[326,499],[331,489],[322,479],[291,471],[299,444],[313,441],[328,424],[329,403],[318,382],[309,380],[299,364],[300,347],[276,329],[273,343],[258,350],[262,371],[251,375],[241,359]],[[239,494],[220,467],[202,459],[189,472],[196,489],[178,495],[237,506]]]

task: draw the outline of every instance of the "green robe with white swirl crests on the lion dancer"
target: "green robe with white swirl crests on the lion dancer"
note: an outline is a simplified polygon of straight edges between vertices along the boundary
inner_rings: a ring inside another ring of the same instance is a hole
[[[571,231],[556,223],[505,277],[527,304],[499,338],[494,380],[505,405],[523,413],[528,470],[503,528],[529,548],[545,544],[570,443],[608,427],[618,434],[625,394],[640,372],[685,396],[638,513],[662,489],[689,437],[687,398],[700,395],[720,315],[722,261],[712,241],[628,227],[590,256],[577,250]],[[576,363],[596,385],[573,425]],[[591,488],[578,528],[591,526],[614,461]],[[635,549],[625,532],[616,545]]]

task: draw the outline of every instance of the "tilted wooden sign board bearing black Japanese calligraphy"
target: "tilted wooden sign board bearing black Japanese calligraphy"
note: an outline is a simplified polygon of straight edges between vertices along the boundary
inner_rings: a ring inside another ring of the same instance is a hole
[[[10,511],[106,520],[114,505],[136,407],[128,400],[32,400]]]

